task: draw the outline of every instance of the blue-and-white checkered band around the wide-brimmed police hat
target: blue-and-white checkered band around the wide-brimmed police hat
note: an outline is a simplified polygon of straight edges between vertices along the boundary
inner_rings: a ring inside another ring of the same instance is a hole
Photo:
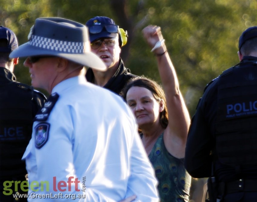
[[[85,53],[86,42],[60,41],[32,35],[29,44],[35,47],[63,53]]]

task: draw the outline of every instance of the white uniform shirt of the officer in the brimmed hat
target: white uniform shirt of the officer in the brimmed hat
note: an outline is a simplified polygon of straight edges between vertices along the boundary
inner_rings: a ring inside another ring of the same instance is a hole
[[[71,201],[60,198],[65,194],[86,197],[72,201],[120,201],[132,194],[137,195],[135,201],[158,201],[154,170],[125,102],[84,76],[62,81],[54,92],[59,99],[45,121],[50,124],[47,141],[35,147],[37,125],[44,121],[34,122],[23,155],[29,194],[37,197],[28,201]],[[42,196],[47,198],[38,199]]]

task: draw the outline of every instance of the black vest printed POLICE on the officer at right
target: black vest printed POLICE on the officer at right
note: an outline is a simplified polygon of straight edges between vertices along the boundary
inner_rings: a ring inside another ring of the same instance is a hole
[[[257,164],[257,65],[239,63],[218,81],[216,152],[221,163]]]

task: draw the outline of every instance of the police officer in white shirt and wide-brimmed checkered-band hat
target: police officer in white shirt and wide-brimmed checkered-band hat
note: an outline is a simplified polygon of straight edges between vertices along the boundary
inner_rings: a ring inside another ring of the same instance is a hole
[[[119,96],[85,79],[84,66],[106,69],[90,51],[86,26],[38,18],[28,39],[10,57],[27,57],[32,85],[51,94],[23,155],[28,201],[158,201],[133,114]]]

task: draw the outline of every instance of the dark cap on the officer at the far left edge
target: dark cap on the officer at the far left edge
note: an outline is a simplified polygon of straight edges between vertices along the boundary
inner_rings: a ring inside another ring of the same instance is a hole
[[[0,39],[7,40],[7,46],[0,47],[0,52],[11,53],[18,47],[18,41],[14,32],[2,25],[0,26]]]

